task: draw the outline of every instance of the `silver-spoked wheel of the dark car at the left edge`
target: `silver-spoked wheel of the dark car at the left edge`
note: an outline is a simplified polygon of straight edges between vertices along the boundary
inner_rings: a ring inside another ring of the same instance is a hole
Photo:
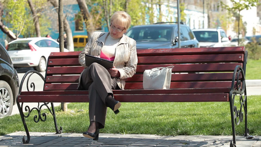
[[[13,93],[6,81],[0,80],[0,118],[9,116],[13,110]]]

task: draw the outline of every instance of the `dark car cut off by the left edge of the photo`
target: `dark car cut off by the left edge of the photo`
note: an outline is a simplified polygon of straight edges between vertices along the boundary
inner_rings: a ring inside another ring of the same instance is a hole
[[[18,90],[18,74],[9,53],[0,44],[0,118],[11,115]]]

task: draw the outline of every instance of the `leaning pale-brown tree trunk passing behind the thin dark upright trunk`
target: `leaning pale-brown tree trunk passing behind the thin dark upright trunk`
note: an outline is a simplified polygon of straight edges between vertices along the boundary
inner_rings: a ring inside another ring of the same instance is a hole
[[[53,5],[53,7],[56,9],[56,12],[59,13],[58,9],[57,9],[59,7],[58,1],[57,0],[47,0],[47,1],[49,1]],[[59,0],[59,2],[60,2],[60,0]],[[70,25],[69,25],[68,21],[66,20],[66,18],[63,19],[63,22],[64,22],[63,27],[64,27],[64,30],[65,30],[66,35],[67,35],[67,49],[69,51],[74,51],[73,39],[72,39],[72,33],[71,33]],[[60,38],[60,34],[59,34],[59,38]]]

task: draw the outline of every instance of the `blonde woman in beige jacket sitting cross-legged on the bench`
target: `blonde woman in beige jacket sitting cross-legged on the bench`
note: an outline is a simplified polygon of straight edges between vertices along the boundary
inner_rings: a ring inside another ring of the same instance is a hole
[[[110,31],[94,32],[79,54],[79,63],[85,67],[79,77],[78,90],[89,91],[90,126],[83,136],[98,140],[99,129],[104,128],[107,107],[119,113],[121,103],[114,99],[112,90],[124,89],[125,78],[136,73],[138,58],[136,41],[124,35],[131,17],[118,11],[111,17]],[[97,63],[85,65],[85,54],[112,60],[113,68],[106,70]]]

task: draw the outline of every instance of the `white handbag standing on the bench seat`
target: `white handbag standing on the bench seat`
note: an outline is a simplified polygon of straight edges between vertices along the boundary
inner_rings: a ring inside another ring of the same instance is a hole
[[[174,66],[145,70],[143,73],[143,89],[169,89],[171,71]]]

